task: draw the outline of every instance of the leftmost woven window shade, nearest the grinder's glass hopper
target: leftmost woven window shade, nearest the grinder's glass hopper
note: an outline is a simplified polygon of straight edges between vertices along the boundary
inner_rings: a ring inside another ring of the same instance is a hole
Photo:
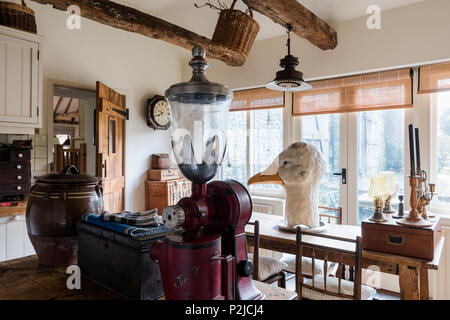
[[[247,111],[284,107],[284,94],[266,88],[234,91],[230,111]]]

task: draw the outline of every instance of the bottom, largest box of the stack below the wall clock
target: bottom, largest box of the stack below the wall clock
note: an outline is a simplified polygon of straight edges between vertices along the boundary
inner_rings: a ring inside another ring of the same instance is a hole
[[[145,181],[145,208],[158,209],[158,214],[167,206],[177,204],[181,198],[189,197],[192,183],[187,179],[169,181]]]

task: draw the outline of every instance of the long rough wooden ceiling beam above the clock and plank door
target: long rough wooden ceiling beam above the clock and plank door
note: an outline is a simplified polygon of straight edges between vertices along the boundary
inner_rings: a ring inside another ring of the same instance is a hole
[[[50,4],[53,8],[66,11],[71,5],[80,8],[81,16],[102,24],[138,33],[153,39],[191,50],[201,45],[208,50],[208,57],[218,59],[230,66],[242,66],[246,58],[223,47],[211,44],[211,40],[165,20],[151,16],[131,7],[109,0],[33,0]]]

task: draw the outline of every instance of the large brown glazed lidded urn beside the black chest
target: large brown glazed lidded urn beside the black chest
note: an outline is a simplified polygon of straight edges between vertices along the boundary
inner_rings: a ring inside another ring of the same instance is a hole
[[[76,223],[85,213],[103,210],[99,180],[80,174],[75,166],[36,179],[28,197],[26,223],[39,265],[77,264]]]

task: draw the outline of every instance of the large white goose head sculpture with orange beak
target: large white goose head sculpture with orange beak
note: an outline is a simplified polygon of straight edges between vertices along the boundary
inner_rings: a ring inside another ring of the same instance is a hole
[[[316,147],[296,142],[281,152],[263,172],[248,180],[252,184],[279,184],[286,192],[285,219],[288,228],[320,226],[319,186],[327,165]]]

